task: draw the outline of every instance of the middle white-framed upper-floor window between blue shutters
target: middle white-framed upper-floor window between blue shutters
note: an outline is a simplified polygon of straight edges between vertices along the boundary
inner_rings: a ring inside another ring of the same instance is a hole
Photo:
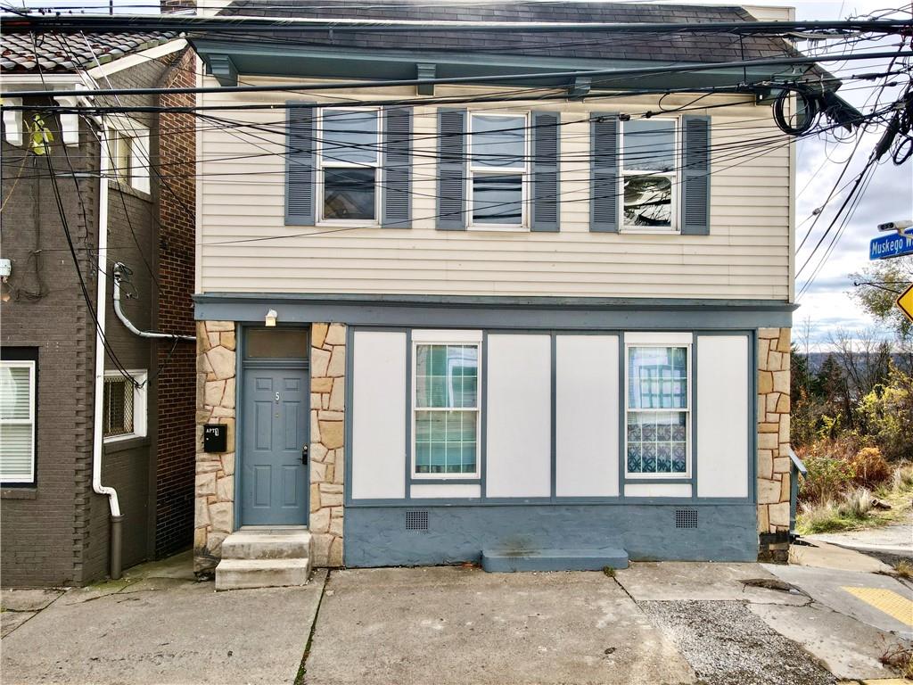
[[[529,225],[527,116],[469,116],[470,227],[509,229]]]

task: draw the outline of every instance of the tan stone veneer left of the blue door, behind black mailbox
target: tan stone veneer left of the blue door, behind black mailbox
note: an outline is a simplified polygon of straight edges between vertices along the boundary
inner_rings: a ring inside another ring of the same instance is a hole
[[[194,572],[209,574],[222,555],[222,541],[235,526],[234,321],[196,323],[196,489]],[[226,424],[227,451],[203,451],[203,427]]]

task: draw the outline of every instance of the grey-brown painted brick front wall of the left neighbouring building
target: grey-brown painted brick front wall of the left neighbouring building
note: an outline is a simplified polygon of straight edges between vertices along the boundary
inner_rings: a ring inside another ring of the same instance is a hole
[[[58,121],[46,118],[60,140]],[[11,298],[0,303],[4,348],[37,350],[37,481],[0,491],[0,573],[9,585],[79,585],[89,539],[94,325],[43,156],[4,141],[3,256],[13,260]],[[90,171],[97,147],[83,131],[79,147],[51,150],[56,171]],[[19,174],[20,163],[22,174]],[[18,180],[16,181],[16,177]],[[15,184],[15,187],[14,187]],[[94,297],[98,181],[58,176],[79,268]],[[81,196],[81,203],[79,197]],[[83,210],[85,213],[83,213]]]

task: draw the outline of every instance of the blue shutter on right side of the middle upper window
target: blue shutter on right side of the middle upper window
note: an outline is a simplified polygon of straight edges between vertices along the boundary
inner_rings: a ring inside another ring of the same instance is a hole
[[[559,160],[561,152],[561,115],[558,112],[532,113],[532,222],[534,231],[557,231],[561,212]]]

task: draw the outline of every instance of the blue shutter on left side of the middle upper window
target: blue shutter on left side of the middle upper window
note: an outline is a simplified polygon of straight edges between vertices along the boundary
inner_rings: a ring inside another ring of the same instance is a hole
[[[466,110],[437,111],[437,227],[466,230]]]

